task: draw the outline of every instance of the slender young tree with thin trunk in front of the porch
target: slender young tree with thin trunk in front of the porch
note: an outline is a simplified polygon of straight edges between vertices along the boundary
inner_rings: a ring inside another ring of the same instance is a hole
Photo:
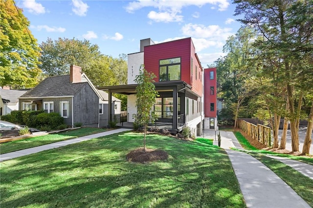
[[[144,127],[143,147],[146,151],[146,132],[148,124],[154,123],[156,114],[152,111],[152,107],[156,102],[158,93],[153,79],[156,77],[153,73],[147,72],[144,65],[141,65],[139,74],[135,77],[135,82],[138,83],[136,87],[136,123]]]

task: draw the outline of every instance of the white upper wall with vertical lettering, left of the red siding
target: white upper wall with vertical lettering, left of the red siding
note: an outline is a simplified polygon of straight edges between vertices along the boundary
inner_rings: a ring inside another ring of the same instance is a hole
[[[134,79],[139,74],[139,69],[143,64],[143,52],[128,54],[127,56],[127,84],[135,84]],[[131,115],[131,114],[130,114]]]

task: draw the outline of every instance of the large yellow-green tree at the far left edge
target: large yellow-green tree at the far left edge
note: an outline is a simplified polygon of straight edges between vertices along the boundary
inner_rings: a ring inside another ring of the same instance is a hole
[[[33,87],[42,71],[40,48],[29,21],[12,0],[0,0],[0,86]]]

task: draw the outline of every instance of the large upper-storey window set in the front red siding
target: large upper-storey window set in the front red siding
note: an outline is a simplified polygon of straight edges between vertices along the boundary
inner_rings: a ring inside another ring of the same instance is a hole
[[[159,81],[180,80],[180,58],[159,61]]]

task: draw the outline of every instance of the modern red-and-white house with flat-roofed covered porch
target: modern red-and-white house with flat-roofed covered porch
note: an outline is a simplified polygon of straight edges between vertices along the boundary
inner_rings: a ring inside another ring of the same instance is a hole
[[[156,75],[154,84],[160,95],[154,105],[158,115],[157,125],[167,126],[171,133],[189,126],[193,135],[201,134],[204,127],[204,73],[192,39],[158,44],[151,39],[141,40],[140,51],[128,54],[128,84],[98,87],[109,92],[109,105],[112,93],[128,95],[128,122],[134,122],[133,115],[137,113],[137,84],[134,79],[142,64],[148,72]],[[112,115],[109,120],[112,120]]]

